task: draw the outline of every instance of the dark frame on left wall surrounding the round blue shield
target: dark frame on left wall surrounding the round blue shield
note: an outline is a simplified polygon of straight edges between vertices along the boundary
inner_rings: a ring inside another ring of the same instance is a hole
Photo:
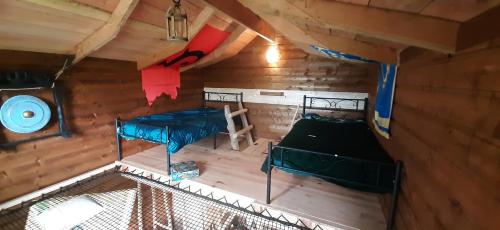
[[[56,105],[57,112],[57,121],[59,130],[54,133],[49,133],[42,136],[30,137],[20,140],[9,141],[5,143],[0,143],[0,149],[9,149],[13,148],[19,144],[37,141],[42,139],[47,139],[50,137],[63,137],[69,138],[71,137],[71,132],[66,126],[66,122],[64,121],[64,112],[62,106],[62,86],[58,84],[57,81],[51,80],[45,74],[36,74],[25,71],[15,71],[7,74],[0,74],[1,77],[5,77],[7,79],[12,78],[12,82],[7,81],[7,83],[0,84],[0,91],[17,91],[17,90],[43,90],[50,89],[52,90],[52,96],[54,99],[54,103]],[[19,81],[19,82],[17,82]]]

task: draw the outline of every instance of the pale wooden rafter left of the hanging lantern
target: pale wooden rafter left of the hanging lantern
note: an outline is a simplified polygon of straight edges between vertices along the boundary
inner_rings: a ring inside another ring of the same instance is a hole
[[[106,24],[76,46],[73,64],[113,40],[134,11],[137,3],[139,0],[120,0]]]

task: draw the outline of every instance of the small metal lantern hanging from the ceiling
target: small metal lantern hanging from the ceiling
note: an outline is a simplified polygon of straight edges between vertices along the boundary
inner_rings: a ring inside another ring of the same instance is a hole
[[[167,40],[170,41],[187,41],[187,14],[181,8],[180,0],[172,0],[174,5],[167,10],[165,20],[167,24]]]

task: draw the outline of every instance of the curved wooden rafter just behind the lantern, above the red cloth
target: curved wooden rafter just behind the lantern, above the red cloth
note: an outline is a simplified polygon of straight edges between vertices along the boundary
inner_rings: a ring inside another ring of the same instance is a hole
[[[205,7],[196,17],[191,25],[188,27],[188,36],[192,39],[208,22],[208,20],[214,14],[214,10],[211,7]],[[141,70],[153,64],[156,64],[166,57],[169,57],[181,50],[183,50],[188,42],[168,42],[164,49],[149,54],[147,56],[141,57],[137,60],[137,69]]]

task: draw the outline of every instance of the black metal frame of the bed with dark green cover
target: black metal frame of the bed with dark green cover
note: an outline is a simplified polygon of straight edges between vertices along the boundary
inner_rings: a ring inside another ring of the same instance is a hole
[[[319,101],[323,102],[322,106],[316,104],[316,102],[319,102]],[[364,103],[362,104],[361,102],[364,102]],[[367,108],[368,108],[368,98],[364,98],[364,99],[325,98],[325,97],[307,97],[304,95],[302,115],[305,116],[306,109],[360,112],[360,113],[363,113],[364,119],[366,120]],[[280,151],[279,159],[280,159],[281,163],[279,165],[274,164],[272,159],[271,159],[273,149],[279,149],[279,151]],[[375,184],[359,183],[359,182],[349,181],[349,180],[331,177],[331,176],[326,176],[326,175],[315,174],[315,173],[287,167],[283,164],[283,150],[293,150],[293,151],[302,152],[305,154],[330,156],[330,157],[334,157],[334,158],[341,159],[344,161],[363,162],[363,163],[368,163],[368,164],[374,164],[377,167],[376,183]],[[389,216],[387,217],[387,229],[393,229],[395,211],[396,211],[396,207],[397,207],[397,197],[398,197],[399,190],[400,190],[401,168],[402,168],[401,161],[396,161],[394,164],[391,164],[391,163],[387,163],[387,162],[379,162],[379,161],[367,160],[367,159],[362,159],[362,158],[342,156],[341,154],[323,153],[323,152],[315,152],[315,151],[309,151],[309,150],[298,149],[298,148],[284,147],[284,146],[279,146],[279,145],[273,145],[272,142],[269,142],[268,143],[268,156],[267,156],[266,203],[267,204],[271,203],[271,171],[273,168],[292,171],[292,172],[298,172],[298,173],[307,173],[309,175],[316,176],[316,177],[327,178],[327,179],[331,179],[333,181],[348,183],[348,184],[352,184],[352,185],[366,186],[366,187],[373,188],[373,189],[386,189],[386,187],[379,184],[380,176],[381,176],[380,173],[381,173],[382,167],[394,167],[394,170],[395,170],[392,192],[391,192],[391,194],[392,194],[391,207],[389,210]]]

